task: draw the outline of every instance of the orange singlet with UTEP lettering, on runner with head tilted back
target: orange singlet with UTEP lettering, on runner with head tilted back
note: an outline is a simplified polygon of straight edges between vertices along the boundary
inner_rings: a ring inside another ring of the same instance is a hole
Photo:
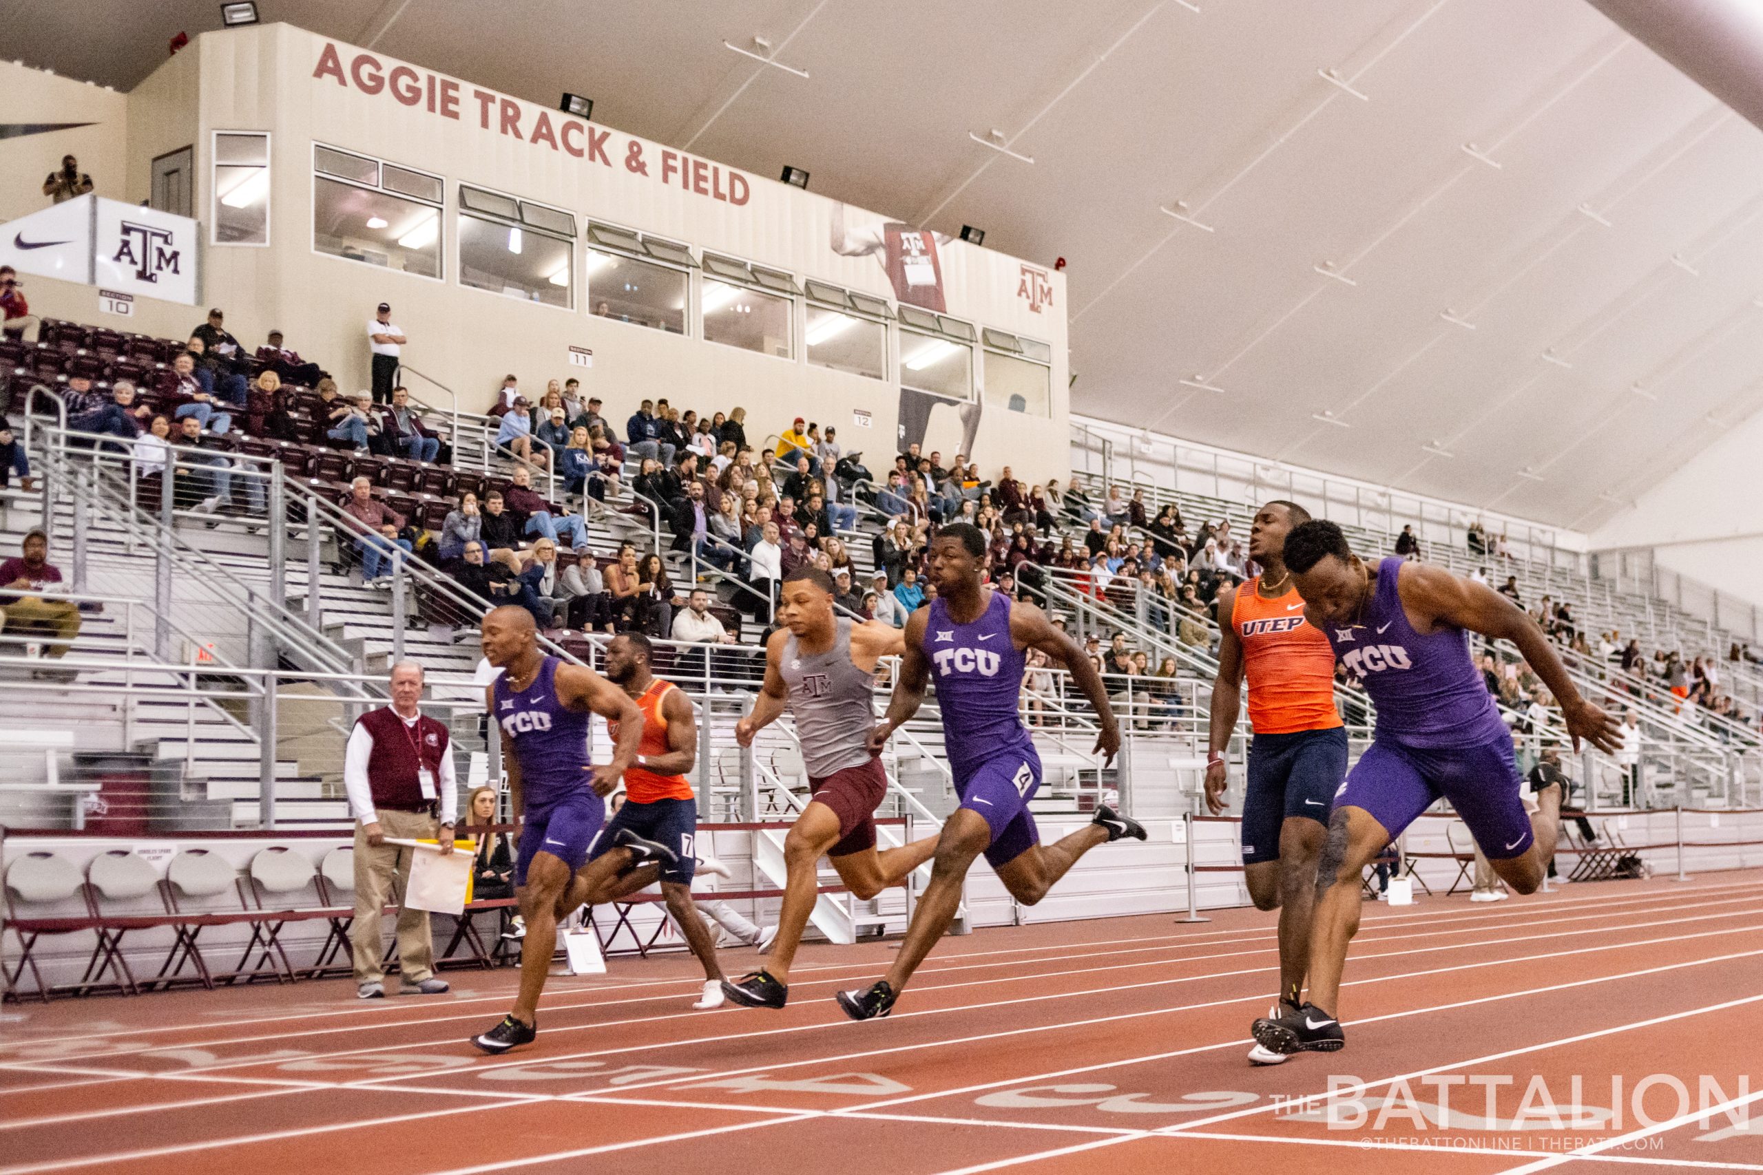
[[[1236,588],[1231,627],[1243,643],[1248,721],[1257,735],[1326,731],[1342,726],[1335,710],[1335,650],[1305,624],[1298,588],[1261,599],[1261,576]]]

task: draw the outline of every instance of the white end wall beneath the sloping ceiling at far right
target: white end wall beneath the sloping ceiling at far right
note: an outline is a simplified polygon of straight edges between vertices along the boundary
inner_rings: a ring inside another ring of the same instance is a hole
[[[1654,548],[1661,567],[1763,606],[1763,414],[1735,425],[1599,527],[1592,550]]]

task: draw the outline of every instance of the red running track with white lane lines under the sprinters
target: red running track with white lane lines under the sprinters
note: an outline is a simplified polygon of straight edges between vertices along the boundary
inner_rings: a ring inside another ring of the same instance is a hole
[[[947,939],[894,1016],[848,1022],[832,992],[890,955],[809,946],[783,1013],[691,1011],[684,957],[614,962],[552,979],[497,1059],[465,1038],[513,971],[12,1008],[0,1175],[1763,1171],[1756,870],[1368,905],[1347,1048],[1266,1069],[1273,914]]]

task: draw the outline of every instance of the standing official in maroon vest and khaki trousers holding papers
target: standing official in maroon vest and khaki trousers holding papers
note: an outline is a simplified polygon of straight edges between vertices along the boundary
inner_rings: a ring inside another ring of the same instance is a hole
[[[391,666],[391,705],[356,719],[349,733],[342,780],[354,816],[354,950],[356,995],[386,994],[384,941],[379,914],[388,897],[398,898],[398,972],[404,995],[439,995],[446,981],[434,974],[428,911],[402,904],[416,849],[386,844],[386,837],[441,840],[453,851],[458,782],[444,722],[418,708],[423,668],[413,661]]]

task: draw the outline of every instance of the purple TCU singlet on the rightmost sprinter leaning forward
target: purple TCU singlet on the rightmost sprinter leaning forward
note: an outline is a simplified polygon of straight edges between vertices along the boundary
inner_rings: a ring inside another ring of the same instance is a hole
[[[1481,669],[1469,655],[1469,634],[1440,625],[1421,636],[1409,624],[1396,588],[1402,565],[1402,558],[1377,565],[1377,590],[1358,624],[1326,627],[1335,655],[1365,684],[1377,706],[1377,736],[1410,747],[1509,740]]]

